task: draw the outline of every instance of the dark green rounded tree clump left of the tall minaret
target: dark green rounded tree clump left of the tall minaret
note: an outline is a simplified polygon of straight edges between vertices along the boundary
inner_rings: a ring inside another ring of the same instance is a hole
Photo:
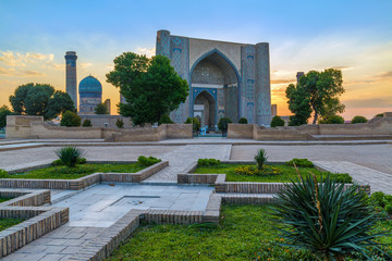
[[[47,84],[25,84],[19,86],[10,102],[15,114],[41,115],[51,120],[62,112],[75,111],[71,97]]]

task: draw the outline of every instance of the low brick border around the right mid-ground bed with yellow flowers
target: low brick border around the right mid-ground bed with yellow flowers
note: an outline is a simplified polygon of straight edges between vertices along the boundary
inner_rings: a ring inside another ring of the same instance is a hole
[[[254,161],[222,161],[224,164],[249,164]],[[268,162],[269,164],[281,164],[282,162]],[[218,194],[277,194],[283,187],[284,183],[250,183],[250,182],[226,182],[225,174],[193,174],[197,167],[197,162],[191,163],[184,173],[177,174],[179,184],[210,184]],[[319,170],[326,171],[318,166]],[[345,184],[345,188],[353,186]],[[359,185],[370,195],[370,185]],[[258,199],[257,199],[258,200]]]

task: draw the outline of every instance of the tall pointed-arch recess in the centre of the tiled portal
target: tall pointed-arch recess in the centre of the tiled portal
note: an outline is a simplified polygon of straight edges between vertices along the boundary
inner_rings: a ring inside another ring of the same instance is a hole
[[[209,127],[215,127],[222,116],[236,122],[240,109],[238,84],[238,73],[224,54],[217,49],[205,53],[191,70],[191,114],[203,114],[205,123],[201,124]]]

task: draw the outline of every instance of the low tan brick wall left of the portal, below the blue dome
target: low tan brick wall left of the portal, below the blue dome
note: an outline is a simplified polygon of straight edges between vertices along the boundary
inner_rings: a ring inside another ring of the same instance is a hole
[[[98,116],[98,115],[88,115]],[[128,120],[127,120],[128,121]],[[9,115],[7,138],[102,139],[107,141],[159,141],[167,138],[192,138],[192,124],[162,124],[158,127],[62,127],[44,122],[42,116]]]

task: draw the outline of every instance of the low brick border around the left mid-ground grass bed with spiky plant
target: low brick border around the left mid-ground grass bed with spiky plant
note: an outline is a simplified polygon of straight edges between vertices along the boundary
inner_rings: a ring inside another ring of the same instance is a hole
[[[135,163],[136,161],[89,161],[88,163]],[[34,166],[46,167],[48,164]],[[71,189],[81,190],[97,183],[140,183],[147,177],[156,174],[169,165],[169,161],[161,161],[136,173],[93,173],[77,179],[25,179],[25,178],[1,178],[0,188],[47,188],[47,189]],[[30,167],[30,170],[34,170]],[[14,170],[13,173],[26,169]]]

